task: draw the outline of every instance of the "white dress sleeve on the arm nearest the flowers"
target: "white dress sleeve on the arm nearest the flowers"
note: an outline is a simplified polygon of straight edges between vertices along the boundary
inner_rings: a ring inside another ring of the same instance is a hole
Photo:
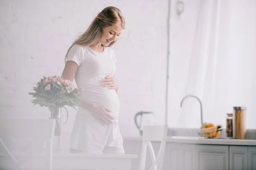
[[[67,54],[67,61],[74,61],[79,66],[83,61],[82,49],[79,45],[73,45]]]

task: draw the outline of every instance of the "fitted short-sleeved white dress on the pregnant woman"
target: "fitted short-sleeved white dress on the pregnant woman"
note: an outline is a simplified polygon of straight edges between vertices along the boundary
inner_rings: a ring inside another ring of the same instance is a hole
[[[67,61],[74,61],[79,66],[75,80],[83,98],[104,105],[114,117],[113,124],[103,125],[91,115],[93,113],[79,107],[70,137],[70,148],[86,153],[124,153],[118,125],[119,99],[115,90],[104,87],[101,82],[116,71],[114,51],[105,47],[103,52],[97,52],[90,47],[73,45]]]

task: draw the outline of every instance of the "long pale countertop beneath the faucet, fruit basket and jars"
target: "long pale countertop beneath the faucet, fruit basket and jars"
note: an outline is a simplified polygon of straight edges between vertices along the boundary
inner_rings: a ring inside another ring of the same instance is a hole
[[[124,141],[142,141],[142,136],[124,136]],[[167,143],[256,146],[253,139],[207,139],[196,136],[167,136]]]

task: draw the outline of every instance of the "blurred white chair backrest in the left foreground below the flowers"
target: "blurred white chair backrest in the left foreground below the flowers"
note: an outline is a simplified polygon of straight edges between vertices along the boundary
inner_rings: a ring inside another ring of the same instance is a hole
[[[21,169],[20,162],[15,159],[4,140],[40,139],[46,144],[44,168],[51,170],[54,129],[54,119],[0,119],[0,150],[15,169]],[[32,144],[35,142],[32,140]]]

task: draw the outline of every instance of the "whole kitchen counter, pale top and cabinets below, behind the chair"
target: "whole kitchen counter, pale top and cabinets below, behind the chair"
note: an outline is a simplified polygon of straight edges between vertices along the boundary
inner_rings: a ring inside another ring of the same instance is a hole
[[[123,139],[125,152],[140,156],[142,136],[124,136]],[[160,142],[152,142],[152,147],[157,153]],[[147,156],[150,159],[150,153]],[[139,161],[140,159],[134,161],[133,170],[138,169]],[[146,169],[151,164],[148,161]],[[224,136],[208,139],[196,135],[167,135],[162,170],[256,170],[255,167],[255,138],[226,139]]]

